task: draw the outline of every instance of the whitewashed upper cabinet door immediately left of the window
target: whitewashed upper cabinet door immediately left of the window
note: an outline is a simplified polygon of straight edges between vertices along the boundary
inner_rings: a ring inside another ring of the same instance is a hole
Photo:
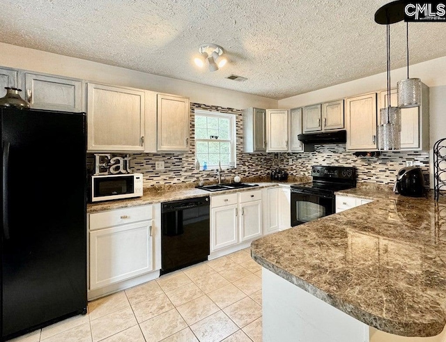
[[[174,95],[157,95],[157,149],[189,150],[189,99]]]

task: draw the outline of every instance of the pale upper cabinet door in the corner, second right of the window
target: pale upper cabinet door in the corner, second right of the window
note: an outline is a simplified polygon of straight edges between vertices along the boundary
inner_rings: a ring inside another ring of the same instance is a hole
[[[267,152],[288,151],[288,110],[266,110]]]

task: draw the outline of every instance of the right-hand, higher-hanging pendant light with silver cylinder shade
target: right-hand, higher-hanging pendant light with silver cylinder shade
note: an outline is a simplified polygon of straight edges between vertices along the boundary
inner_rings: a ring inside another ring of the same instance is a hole
[[[406,22],[407,79],[397,83],[398,107],[410,108],[421,105],[421,79],[409,78],[409,24]]]

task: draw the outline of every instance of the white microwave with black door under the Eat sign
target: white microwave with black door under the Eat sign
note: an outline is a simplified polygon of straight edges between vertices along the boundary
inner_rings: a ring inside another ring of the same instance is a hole
[[[142,173],[91,176],[91,202],[142,196]]]

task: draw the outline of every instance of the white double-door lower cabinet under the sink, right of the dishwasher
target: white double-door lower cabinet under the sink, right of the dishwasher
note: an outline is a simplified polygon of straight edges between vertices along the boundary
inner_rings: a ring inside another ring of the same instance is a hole
[[[211,252],[262,235],[261,199],[261,190],[211,197]]]

